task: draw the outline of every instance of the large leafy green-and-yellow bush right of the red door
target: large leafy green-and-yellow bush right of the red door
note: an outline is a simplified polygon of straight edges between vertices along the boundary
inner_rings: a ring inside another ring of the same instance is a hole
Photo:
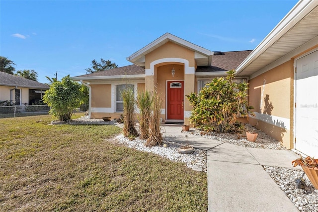
[[[220,77],[212,80],[198,94],[186,95],[193,106],[190,122],[205,131],[237,132],[242,125],[238,117],[254,116],[248,106],[248,83],[235,83],[234,70],[227,72],[226,78]]]

